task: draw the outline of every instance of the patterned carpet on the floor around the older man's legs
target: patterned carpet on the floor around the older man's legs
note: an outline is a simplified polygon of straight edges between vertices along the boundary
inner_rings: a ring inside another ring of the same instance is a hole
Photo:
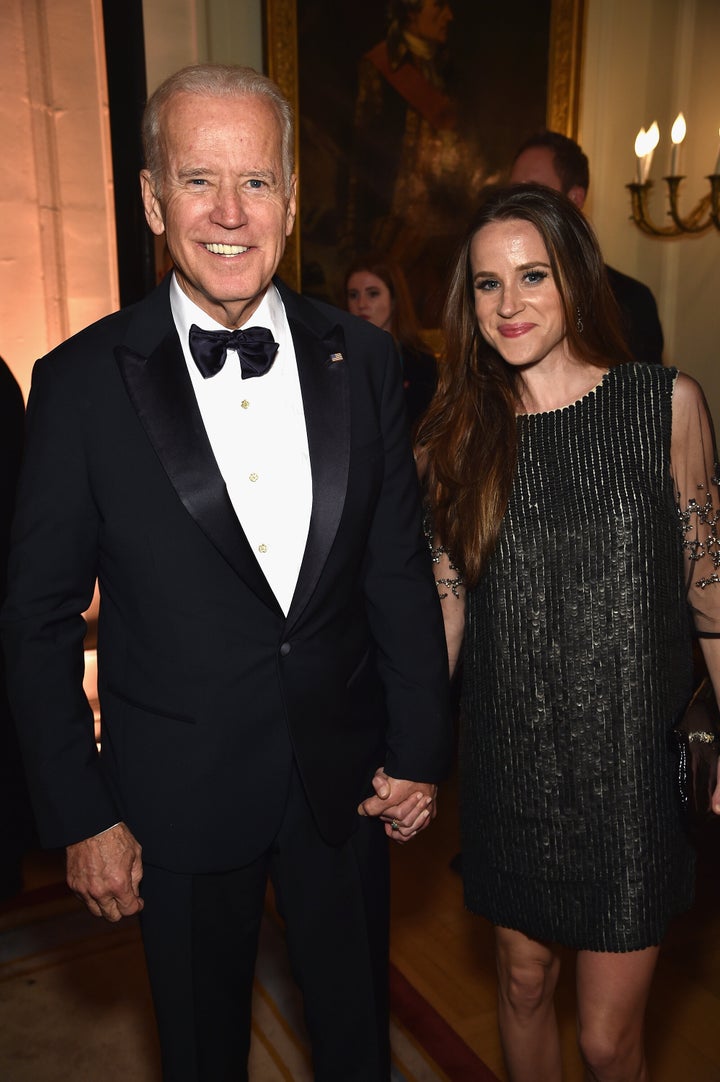
[[[140,932],[92,918],[62,887],[0,910],[2,1082],[158,1082]],[[393,1082],[494,1082],[495,1076],[391,972]],[[312,1082],[283,934],[265,918],[252,1018],[252,1082]]]

